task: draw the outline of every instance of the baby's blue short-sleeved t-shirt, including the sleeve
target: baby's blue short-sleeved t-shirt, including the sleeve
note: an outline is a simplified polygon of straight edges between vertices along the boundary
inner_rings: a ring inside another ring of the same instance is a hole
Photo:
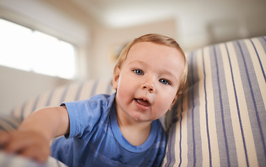
[[[161,122],[152,122],[145,143],[131,145],[118,127],[115,95],[63,104],[70,134],[55,141],[52,157],[68,166],[161,166],[167,141]]]

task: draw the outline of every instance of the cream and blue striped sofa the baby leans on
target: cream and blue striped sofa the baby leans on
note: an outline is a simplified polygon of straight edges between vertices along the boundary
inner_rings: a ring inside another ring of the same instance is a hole
[[[169,134],[162,166],[266,166],[265,53],[266,36],[260,36],[187,54],[187,89],[160,118]],[[1,116],[0,129],[17,128],[42,106],[114,92],[111,77],[60,86],[15,107],[10,116]],[[1,152],[0,166],[5,156]],[[14,155],[8,159],[21,166],[29,163]],[[56,161],[54,166],[63,164]]]

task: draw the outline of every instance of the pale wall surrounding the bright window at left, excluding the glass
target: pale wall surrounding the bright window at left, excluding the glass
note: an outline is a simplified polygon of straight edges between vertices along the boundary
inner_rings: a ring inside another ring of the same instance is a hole
[[[58,6],[62,10],[46,1],[0,0],[0,17],[54,35],[75,45],[80,54],[78,64],[80,72],[77,79],[85,79],[88,74],[86,47],[90,39],[88,22],[79,18],[83,13],[72,4],[61,3]],[[65,12],[65,8],[68,8],[68,12]],[[59,65],[60,62],[58,67]],[[69,82],[66,79],[0,66],[0,114],[9,113],[14,106],[22,104],[29,98]]]

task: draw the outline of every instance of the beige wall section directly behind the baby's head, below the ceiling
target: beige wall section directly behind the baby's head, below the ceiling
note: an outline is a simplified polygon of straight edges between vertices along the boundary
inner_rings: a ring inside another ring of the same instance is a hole
[[[146,33],[162,33],[175,37],[175,20],[166,19],[159,22],[132,26],[123,29],[107,29],[98,27],[93,31],[91,54],[94,65],[91,77],[109,77],[112,75],[115,62],[111,60],[111,49],[116,45],[127,44],[134,38]]]

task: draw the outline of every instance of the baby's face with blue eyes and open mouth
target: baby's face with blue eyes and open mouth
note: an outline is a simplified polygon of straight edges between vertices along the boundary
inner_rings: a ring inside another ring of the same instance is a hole
[[[114,72],[117,111],[138,121],[162,117],[176,100],[184,68],[178,49],[152,42],[133,45]]]

